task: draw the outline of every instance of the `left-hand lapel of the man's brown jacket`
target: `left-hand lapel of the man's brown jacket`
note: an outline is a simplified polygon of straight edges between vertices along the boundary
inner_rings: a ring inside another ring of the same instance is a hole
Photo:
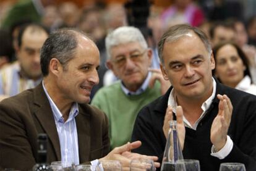
[[[41,127],[47,133],[49,141],[53,144],[58,161],[61,161],[61,148],[59,145],[59,136],[54,122],[53,112],[48,98],[43,90],[42,83],[36,86],[34,91],[35,117],[41,124]]]

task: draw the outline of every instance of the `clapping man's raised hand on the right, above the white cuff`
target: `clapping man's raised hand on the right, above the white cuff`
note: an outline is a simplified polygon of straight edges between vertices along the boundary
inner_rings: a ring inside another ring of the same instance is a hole
[[[211,124],[211,143],[215,146],[216,152],[220,151],[226,144],[229,124],[233,112],[233,106],[230,99],[225,94],[217,95],[220,99],[219,112]]]

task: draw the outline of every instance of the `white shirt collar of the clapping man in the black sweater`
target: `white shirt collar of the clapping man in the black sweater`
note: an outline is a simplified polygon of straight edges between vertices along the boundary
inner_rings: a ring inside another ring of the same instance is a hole
[[[214,78],[212,78],[212,80],[213,80],[213,92],[211,93],[211,96],[205,102],[203,102],[203,104],[201,106],[201,109],[203,110],[203,113],[200,116],[200,118],[197,120],[197,122],[195,122],[195,123],[198,123],[203,118],[203,116],[205,115],[205,112],[209,109],[209,107],[211,106],[211,102],[215,98],[216,81],[214,80]],[[169,105],[173,108],[173,112],[176,114],[177,101],[176,101],[176,96],[174,94],[174,88],[173,88],[173,90],[171,90],[171,93],[169,94],[168,106]],[[191,127],[190,123],[187,121],[187,119],[185,117],[183,117],[183,120],[184,120],[186,126]],[[196,127],[197,127],[197,124],[195,124],[195,128]]]

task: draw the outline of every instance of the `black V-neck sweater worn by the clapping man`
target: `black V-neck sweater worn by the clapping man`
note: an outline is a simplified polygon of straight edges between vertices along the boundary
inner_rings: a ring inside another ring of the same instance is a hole
[[[171,88],[155,101],[151,102],[137,115],[132,133],[132,141],[142,141],[140,148],[134,152],[163,159],[166,138],[163,133],[163,122],[168,106]],[[233,114],[229,125],[228,135],[234,146],[224,159],[210,155],[210,129],[213,120],[218,114],[220,100],[217,94],[226,94],[233,104]],[[216,95],[205,116],[198,123],[197,130],[186,127],[186,136],[183,148],[184,159],[200,161],[202,171],[219,170],[223,162],[241,162],[247,171],[256,170],[256,96],[224,86],[216,80]],[[173,115],[176,120],[176,115]],[[160,169],[157,169],[160,170]]]

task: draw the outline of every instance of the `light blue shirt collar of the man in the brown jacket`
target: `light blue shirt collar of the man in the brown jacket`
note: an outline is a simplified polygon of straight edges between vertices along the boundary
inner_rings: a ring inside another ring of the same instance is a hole
[[[61,111],[59,111],[59,109],[56,106],[56,104],[54,103],[53,99],[51,99],[51,97],[49,96],[43,81],[42,81],[42,85],[43,85],[43,90],[45,91],[45,94],[46,94],[46,96],[49,100],[51,109],[53,110],[54,120],[56,122],[64,123],[64,118],[62,117]],[[69,122],[70,120],[74,119],[78,114],[79,114],[79,107],[78,107],[77,102],[74,102],[72,104],[72,107],[71,107],[70,112],[69,112],[69,118],[66,120],[66,122]]]

